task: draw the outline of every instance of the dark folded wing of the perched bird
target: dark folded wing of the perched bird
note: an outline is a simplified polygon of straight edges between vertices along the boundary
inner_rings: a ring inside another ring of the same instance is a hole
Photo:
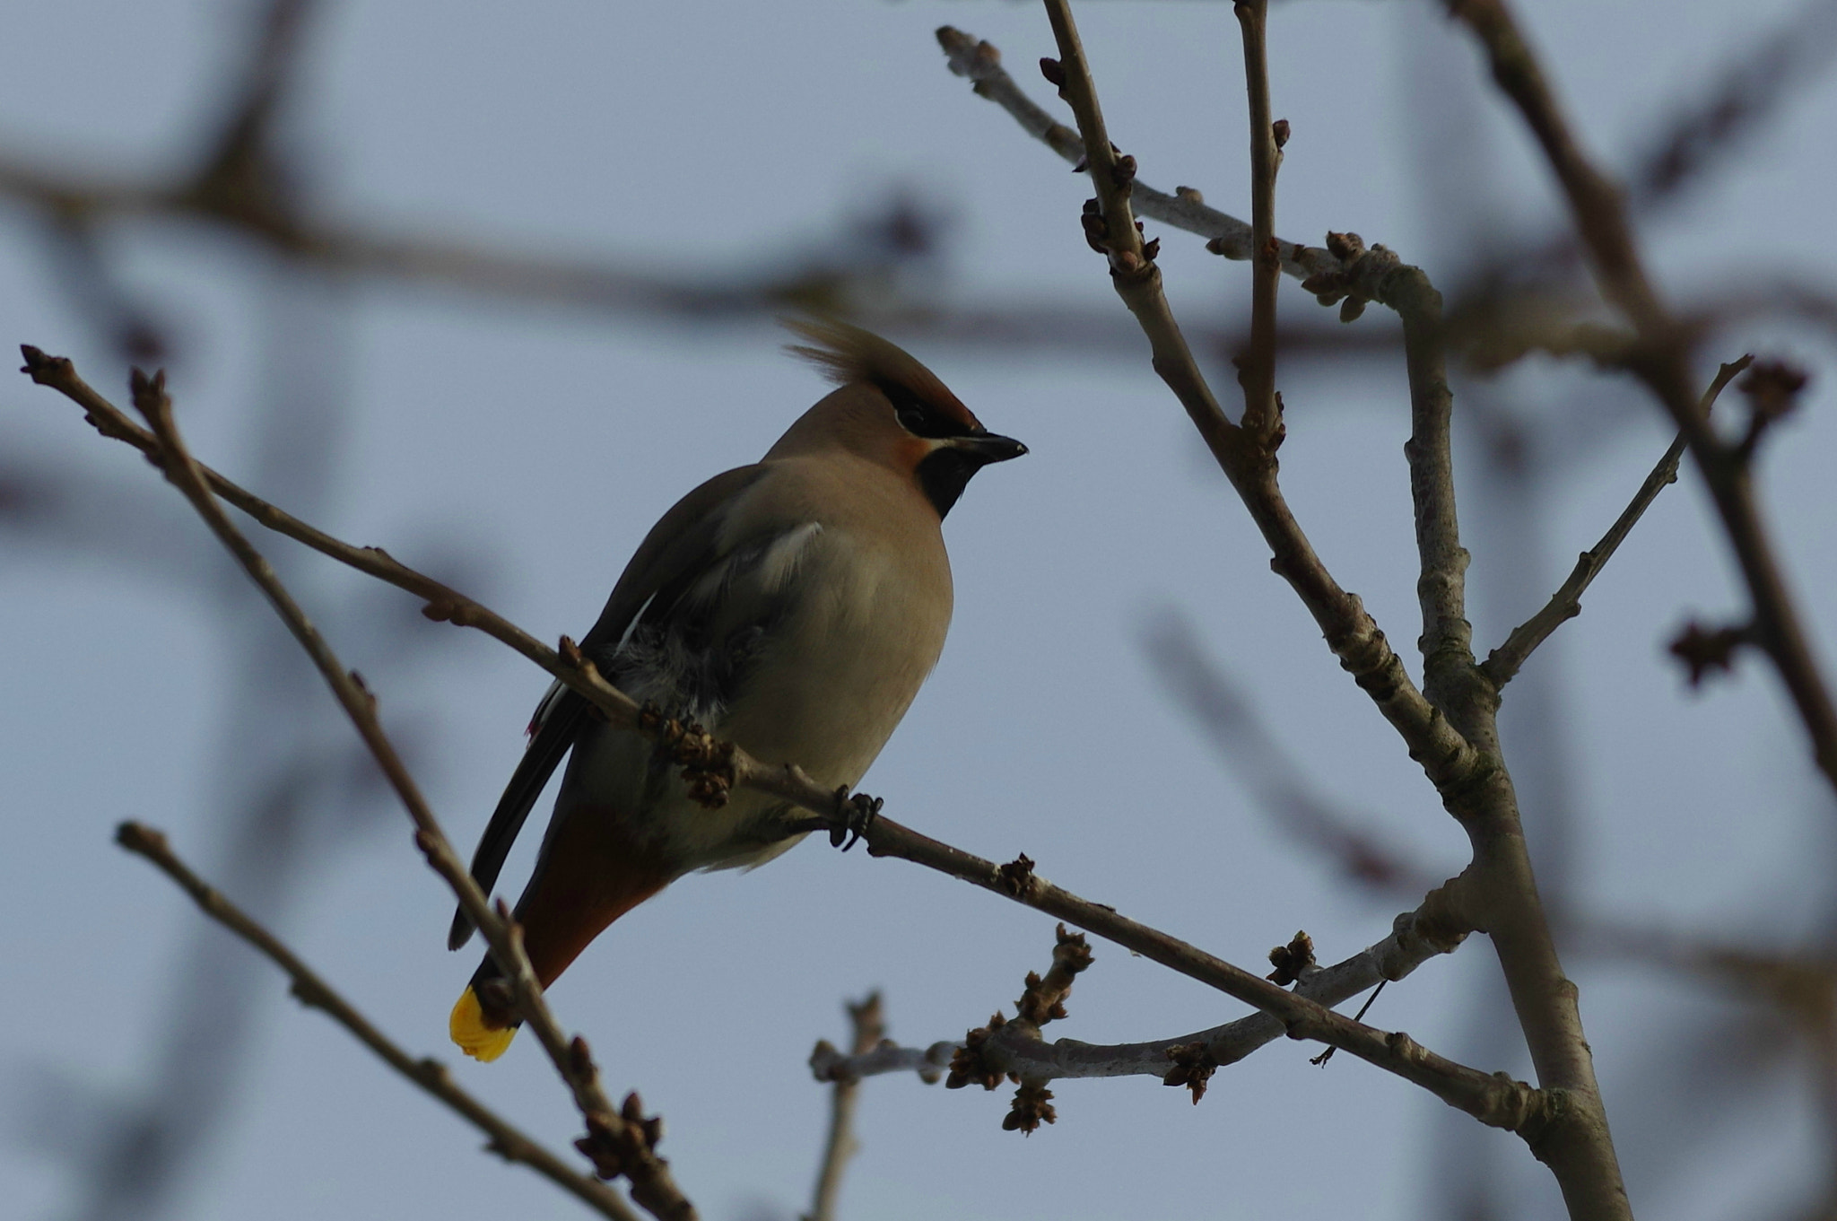
[[[641,619],[661,613],[682,600],[683,593],[696,586],[709,569],[720,567],[724,554],[718,553],[716,538],[726,509],[755,479],[764,474],[762,466],[738,466],[724,472],[683,496],[665,512],[645,542],[632,553],[619,584],[606,599],[606,610],[582,637],[580,650],[604,665],[625,639],[626,632]],[[511,773],[511,782],[498,799],[498,808],[485,824],[485,834],[472,854],[472,878],[479,889],[490,894],[511,856],[516,834],[524,830],[529,810],[536,804],[547,786],[555,767],[568,756],[580,731],[590,723],[592,705],[586,698],[555,683],[536,705],[535,720],[529,725],[529,747]],[[459,949],[472,936],[472,918],[461,907],[454,914],[446,946]]]

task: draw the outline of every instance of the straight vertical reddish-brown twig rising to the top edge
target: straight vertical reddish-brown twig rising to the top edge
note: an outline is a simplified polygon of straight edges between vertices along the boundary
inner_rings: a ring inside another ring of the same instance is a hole
[[[1275,241],[1275,174],[1282,163],[1269,110],[1269,55],[1266,31],[1269,0],[1238,0],[1244,35],[1244,88],[1251,119],[1251,345],[1238,365],[1244,387],[1244,428],[1258,444],[1280,442],[1282,409],[1275,393],[1275,290],[1282,283],[1282,252]],[[1284,129],[1286,130],[1286,129]],[[1286,140],[1286,136],[1284,136]]]

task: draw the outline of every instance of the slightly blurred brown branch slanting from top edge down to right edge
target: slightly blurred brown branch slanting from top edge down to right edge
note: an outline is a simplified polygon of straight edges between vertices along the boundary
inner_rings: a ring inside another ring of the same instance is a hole
[[[1506,4],[1449,0],[1449,11],[1473,29],[1490,59],[1493,81],[1517,105],[1543,147],[1569,198],[1571,218],[1589,252],[1602,296],[1626,314],[1639,334],[1639,353],[1629,367],[1672,413],[1690,444],[1754,602],[1752,637],[1786,683],[1819,769],[1837,788],[1837,703],[1811,654],[1762,523],[1747,457],[1738,446],[1723,442],[1697,411],[1690,373],[1692,336],[1646,275],[1620,191],[1583,152]]]

